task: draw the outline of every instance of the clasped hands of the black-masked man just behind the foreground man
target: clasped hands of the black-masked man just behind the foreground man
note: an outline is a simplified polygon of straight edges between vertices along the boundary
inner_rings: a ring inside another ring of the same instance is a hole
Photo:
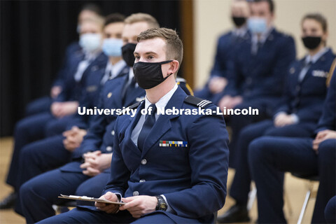
[[[93,153],[84,154],[85,162],[80,165],[83,174],[87,176],[97,176],[104,172],[111,166],[112,153],[102,153],[101,151],[94,151]]]

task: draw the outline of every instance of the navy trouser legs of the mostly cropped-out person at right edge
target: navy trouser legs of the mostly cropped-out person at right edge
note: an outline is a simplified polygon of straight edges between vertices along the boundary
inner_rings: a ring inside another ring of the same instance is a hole
[[[258,195],[259,223],[286,223],[282,172],[318,174],[320,185],[311,223],[325,223],[324,209],[336,194],[336,139],[323,141],[318,154],[312,139],[261,137],[252,141],[248,159]]]

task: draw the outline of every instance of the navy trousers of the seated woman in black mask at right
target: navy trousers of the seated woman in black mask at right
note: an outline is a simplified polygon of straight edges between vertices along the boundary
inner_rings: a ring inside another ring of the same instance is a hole
[[[251,175],[248,167],[248,145],[251,141],[262,136],[311,137],[313,131],[314,125],[300,123],[285,127],[274,127],[273,120],[264,120],[244,127],[238,138],[236,148],[237,165],[235,178],[230,189],[230,196],[237,203],[247,203],[251,185]]]

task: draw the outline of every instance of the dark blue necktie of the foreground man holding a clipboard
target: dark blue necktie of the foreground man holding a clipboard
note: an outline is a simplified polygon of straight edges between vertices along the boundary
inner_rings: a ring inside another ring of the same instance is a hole
[[[151,114],[148,114],[149,111],[151,111]],[[146,120],[144,126],[142,126],[141,132],[138,137],[138,148],[140,149],[141,152],[142,149],[144,148],[145,140],[155,124],[155,113],[156,113],[155,104],[151,104],[150,106],[148,106],[148,113],[146,114]]]

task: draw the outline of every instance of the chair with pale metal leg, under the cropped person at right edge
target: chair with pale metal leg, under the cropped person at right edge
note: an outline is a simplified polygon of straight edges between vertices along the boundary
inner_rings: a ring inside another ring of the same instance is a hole
[[[297,174],[292,173],[292,176],[295,176],[300,179],[305,179],[308,182],[308,191],[306,193],[306,197],[304,198],[304,202],[302,205],[302,209],[300,212],[299,219],[297,220],[297,224],[301,224],[303,220],[304,213],[306,212],[307,205],[309,202],[309,199],[316,198],[317,190],[314,189],[314,182],[318,181],[318,176],[316,175],[307,175],[307,174]]]

